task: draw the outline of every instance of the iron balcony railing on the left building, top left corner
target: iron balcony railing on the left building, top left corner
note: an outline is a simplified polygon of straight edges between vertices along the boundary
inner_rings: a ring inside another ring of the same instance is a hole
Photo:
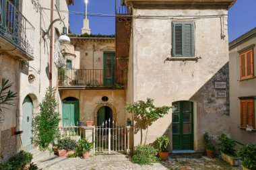
[[[34,26],[9,0],[0,0],[0,36],[34,55]]]

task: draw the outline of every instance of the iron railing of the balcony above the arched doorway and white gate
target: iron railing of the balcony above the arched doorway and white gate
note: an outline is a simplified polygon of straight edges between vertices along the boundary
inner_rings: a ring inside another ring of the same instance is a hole
[[[60,86],[123,87],[123,71],[114,69],[59,69]]]

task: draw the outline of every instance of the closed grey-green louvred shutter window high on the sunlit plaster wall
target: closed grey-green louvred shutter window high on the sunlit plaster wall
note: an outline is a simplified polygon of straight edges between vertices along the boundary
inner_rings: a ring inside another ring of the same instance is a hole
[[[172,56],[194,56],[193,22],[172,22]]]

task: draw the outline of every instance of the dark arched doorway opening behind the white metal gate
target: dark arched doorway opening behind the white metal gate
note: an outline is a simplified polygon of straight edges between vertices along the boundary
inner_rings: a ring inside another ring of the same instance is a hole
[[[97,126],[113,127],[113,111],[108,106],[102,106],[98,110]]]

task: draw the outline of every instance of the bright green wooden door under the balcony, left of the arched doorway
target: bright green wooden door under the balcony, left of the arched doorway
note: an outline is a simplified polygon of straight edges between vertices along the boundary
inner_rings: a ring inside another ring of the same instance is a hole
[[[77,126],[79,122],[79,101],[62,101],[63,126]]]

